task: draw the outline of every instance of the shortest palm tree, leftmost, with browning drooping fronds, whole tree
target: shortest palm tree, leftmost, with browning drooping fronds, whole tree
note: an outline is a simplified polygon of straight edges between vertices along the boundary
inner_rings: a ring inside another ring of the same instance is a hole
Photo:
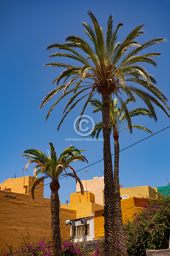
[[[26,170],[30,163],[36,163],[34,167],[34,176],[38,174],[43,175],[41,178],[34,181],[32,185],[32,198],[34,199],[34,189],[35,187],[44,179],[50,178],[52,179],[50,183],[51,189],[51,255],[52,256],[61,256],[62,255],[62,246],[61,246],[61,237],[60,237],[60,228],[59,228],[59,195],[58,190],[60,188],[59,185],[59,177],[73,177],[80,184],[81,193],[84,194],[84,189],[81,180],[77,177],[77,174],[70,163],[75,161],[87,162],[86,157],[81,155],[81,152],[85,150],[78,150],[77,148],[70,146],[66,148],[62,154],[57,158],[57,152],[53,143],[49,143],[50,145],[50,156],[49,158],[36,149],[28,149],[25,150],[21,157],[27,157],[29,160],[26,163]],[[73,173],[67,173],[66,169],[70,169]]]

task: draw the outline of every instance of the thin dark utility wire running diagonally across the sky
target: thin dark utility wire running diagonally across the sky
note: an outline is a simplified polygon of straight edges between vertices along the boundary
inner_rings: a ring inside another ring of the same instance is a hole
[[[150,135],[150,136],[144,138],[144,139],[141,140],[141,141],[144,141],[144,140],[146,140],[146,139],[152,137],[153,135],[158,134],[159,132],[168,129],[169,127],[170,127],[170,126],[168,126],[168,127],[164,128],[164,129],[162,129],[162,130],[160,130],[160,131],[158,131],[158,132],[156,132],[156,133],[154,133],[154,134],[152,134],[152,135]],[[136,142],[136,143],[130,145],[129,147],[132,147],[132,146],[134,146],[134,145],[140,143],[141,141],[138,141],[138,142]],[[124,149],[120,150],[119,152],[121,152],[121,151],[123,151],[123,150],[125,150],[125,149],[127,149],[127,148],[129,148],[129,147],[125,147]],[[114,154],[111,154],[111,156],[113,156],[113,155],[114,155]],[[109,157],[110,157],[110,156],[109,156]],[[103,159],[101,159],[101,160],[99,160],[99,161],[97,161],[97,162],[95,162],[95,163],[99,163],[99,162],[103,161],[103,160],[106,159],[106,158],[108,158],[108,157],[105,157],[105,158],[103,158]],[[92,163],[92,164],[90,164],[90,165],[88,165],[88,166],[86,166],[86,167],[84,167],[84,168],[82,168],[82,169],[80,169],[80,170],[78,170],[78,171],[75,171],[75,173],[77,173],[77,172],[79,172],[79,171],[81,171],[81,170],[83,170],[83,169],[85,169],[85,168],[88,168],[89,166],[92,166],[92,165],[95,164],[95,163]],[[64,177],[62,177],[62,178],[59,178],[58,180],[63,179],[63,178],[65,178],[65,177],[66,177],[66,176],[64,176]],[[50,182],[50,183],[51,183],[51,182]],[[42,188],[42,187],[44,187],[44,186],[46,186],[46,185],[49,185],[50,183],[47,183],[47,184],[45,184],[45,185],[43,185],[43,186],[41,186],[41,187],[35,188],[35,189]],[[34,190],[35,190],[35,189],[34,189]],[[32,191],[32,190],[27,191],[26,193],[31,192],[31,191]],[[24,195],[24,194],[25,194],[25,193],[20,194],[20,195]],[[15,197],[18,197],[18,196],[20,196],[20,195],[17,195],[17,196],[15,196]],[[3,201],[1,201],[1,202],[7,201],[7,200],[10,200],[10,199],[12,199],[12,198],[8,198],[8,199],[3,200]]]

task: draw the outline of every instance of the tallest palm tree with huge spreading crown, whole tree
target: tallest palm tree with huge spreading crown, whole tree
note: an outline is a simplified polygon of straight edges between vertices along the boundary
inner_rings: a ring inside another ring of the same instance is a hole
[[[52,43],[46,47],[48,51],[52,49],[64,50],[64,52],[56,52],[49,57],[68,57],[79,61],[81,65],[73,66],[65,63],[46,63],[45,66],[63,67],[64,71],[54,79],[57,87],[50,91],[43,99],[40,109],[53,98],[53,96],[60,91],[63,94],[54,102],[48,111],[46,120],[57,103],[68,94],[72,94],[66,107],[64,109],[64,116],[60,121],[57,130],[62,124],[66,115],[76,106],[78,102],[87,97],[86,103],[80,114],[79,122],[86,109],[90,99],[99,93],[102,95],[102,123],[103,123],[103,155],[104,155],[104,197],[105,197],[105,211],[104,211],[104,231],[105,231],[105,253],[106,255],[116,255],[115,246],[115,216],[113,201],[113,169],[112,157],[110,147],[110,108],[109,95],[112,93],[117,95],[121,107],[124,107],[125,115],[128,121],[130,131],[132,131],[131,119],[129,112],[124,105],[121,97],[121,91],[128,96],[134,95],[140,97],[151,111],[154,119],[157,120],[155,109],[153,105],[160,107],[169,117],[169,107],[167,105],[167,98],[164,93],[156,86],[156,81],[141,65],[140,62],[146,62],[156,67],[156,62],[153,60],[154,56],[160,56],[160,53],[147,53],[138,55],[142,49],[151,47],[154,44],[165,42],[165,38],[153,38],[141,45],[136,41],[139,35],[144,34],[141,30],[144,25],[139,25],[133,29],[125,40],[120,43],[117,42],[117,31],[123,26],[119,23],[113,31],[113,17],[109,16],[106,26],[106,40],[96,17],[91,11],[88,15],[93,23],[92,27],[86,22],[82,22],[85,30],[83,30],[88,39],[91,40],[92,46],[84,39],[70,35],[66,37],[65,43]],[[77,49],[77,51],[76,51]],[[80,52],[82,51],[82,54]],[[63,80],[63,83],[59,83]],[[129,83],[132,83],[129,84]],[[144,89],[149,90],[153,95],[145,90],[134,86],[134,83],[143,86]],[[78,97],[80,96],[80,98]],[[77,99],[78,97],[78,99]],[[163,106],[162,103],[165,105]],[[79,127],[79,123],[78,123]]]

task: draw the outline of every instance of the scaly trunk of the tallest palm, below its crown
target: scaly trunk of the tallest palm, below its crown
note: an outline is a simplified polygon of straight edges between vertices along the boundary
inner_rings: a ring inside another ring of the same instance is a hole
[[[104,244],[105,255],[116,256],[115,211],[113,198],[113,167],[110,146],[109,95],[102,95],[103,156],[104,156]]]

